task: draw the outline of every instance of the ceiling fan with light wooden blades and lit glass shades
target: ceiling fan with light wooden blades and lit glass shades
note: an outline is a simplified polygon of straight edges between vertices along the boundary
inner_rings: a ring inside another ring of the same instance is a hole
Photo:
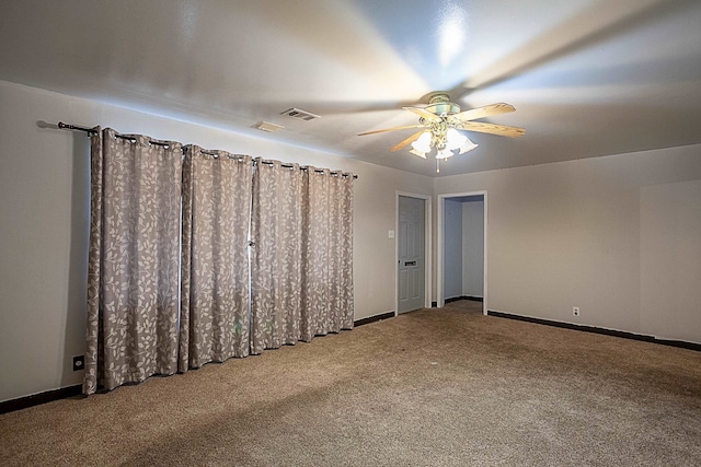
[[[460,112],[460,106],[450,102],[447,93],[437,92],[430,95],[428,105],[425,107],[403,108],[418,115],[417,125],[367,131],[358,136],[421,128],[411,137],[392,147],[390,151],[399,151],[411,143],[413,149],[410,152],[412,154],[426,159],[426,154],[430,152],[433,148],[436,148],[436,160],[446,160],[456,153],[462,154],[478,147],[478,144],[470,141],[466,135],[462,135],[458,130],[478,131],[509,138],[518,138],[526,135],[526,130],[518,127],[489,124],[485,121],[472,121],[492,115],[515,112],[514,106],[509,104],[492,104]],[[437,168],[436,172],[439,172],[439,168]]]

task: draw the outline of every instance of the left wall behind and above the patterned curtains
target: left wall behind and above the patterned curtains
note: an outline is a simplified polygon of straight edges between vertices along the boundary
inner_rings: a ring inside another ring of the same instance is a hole
[[[432,178],[7,82],[0,102],[0,401],[82,377],[71,365],[84,353],[88,139],[38,120],[354,172],[355,317],[394,310],[395,194],[430,195]]]

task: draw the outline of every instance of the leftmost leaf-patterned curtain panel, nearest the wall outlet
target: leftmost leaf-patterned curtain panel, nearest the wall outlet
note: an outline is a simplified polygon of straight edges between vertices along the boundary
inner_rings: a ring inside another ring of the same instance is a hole
[[[84,394],[177,370],[181,145],[95,130]]]

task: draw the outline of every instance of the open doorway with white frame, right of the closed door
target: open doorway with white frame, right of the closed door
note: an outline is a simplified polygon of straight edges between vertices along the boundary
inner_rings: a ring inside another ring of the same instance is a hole
[[[486,191],[438,196],[436,304],[468,299],[486,315]]]

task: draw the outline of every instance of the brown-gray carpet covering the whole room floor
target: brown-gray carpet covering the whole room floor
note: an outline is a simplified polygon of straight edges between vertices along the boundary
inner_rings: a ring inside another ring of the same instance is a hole
[[[0,465],[701,465],[701,352],[474,302],[0,416]]]

